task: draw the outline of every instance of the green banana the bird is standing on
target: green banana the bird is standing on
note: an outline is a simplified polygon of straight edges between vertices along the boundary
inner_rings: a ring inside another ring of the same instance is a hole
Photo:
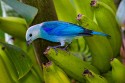
[[[94,66],[61,49],[56,49],[55,51],[48,47],[44,54],[62,68],[67,75],[80,82],[85,82],[84,76],[82,75],[85,69],[99,73]]]

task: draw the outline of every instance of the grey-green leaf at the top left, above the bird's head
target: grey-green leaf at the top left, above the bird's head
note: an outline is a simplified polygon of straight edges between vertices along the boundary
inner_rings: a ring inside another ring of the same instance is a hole
[[[2,0],[9,6],[11,6],[17,13],[24,17],[28,24],[30,24],[36,16],[38,9],[26,4],[23,4],[17,0]]]

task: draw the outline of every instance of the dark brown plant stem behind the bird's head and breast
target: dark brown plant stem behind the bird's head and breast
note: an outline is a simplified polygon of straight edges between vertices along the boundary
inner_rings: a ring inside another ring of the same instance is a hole
[[[31,25],[38,24],[44,21],[58,20],[53,0],[21,0],[21,1],[23,3],[38,8],[38,14]],[[53,45],[54,45],[53,43],[43,39],[37,39],[33,42],[36,58],[40,67],[42,63],[48,62],[48,59],[44,56],[43,52],[48,46],[53,46]]]

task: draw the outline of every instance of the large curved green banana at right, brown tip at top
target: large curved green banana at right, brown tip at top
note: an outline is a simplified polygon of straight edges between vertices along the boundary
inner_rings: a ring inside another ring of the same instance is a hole
[[[116,57],[121,47],[121,33],[115,19],[115,13],[103,2],[96,1],[92,6],[98,26],[111,36],[109,42],[113,49],[113,55]]]

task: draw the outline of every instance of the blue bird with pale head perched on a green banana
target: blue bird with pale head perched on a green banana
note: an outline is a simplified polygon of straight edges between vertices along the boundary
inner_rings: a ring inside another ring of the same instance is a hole
[[[54,48],[58,48],[65,46],[65,43],[70,44],[74,38],[79,36],[90,37],[93,35],[110,37],[103,32],[89,30],[77,24],[64,21],[46,21],[28,28],[26,42],[29,45],[34,40],[42,38],[50,42],[59,42],[60,45],[54,46]]]

